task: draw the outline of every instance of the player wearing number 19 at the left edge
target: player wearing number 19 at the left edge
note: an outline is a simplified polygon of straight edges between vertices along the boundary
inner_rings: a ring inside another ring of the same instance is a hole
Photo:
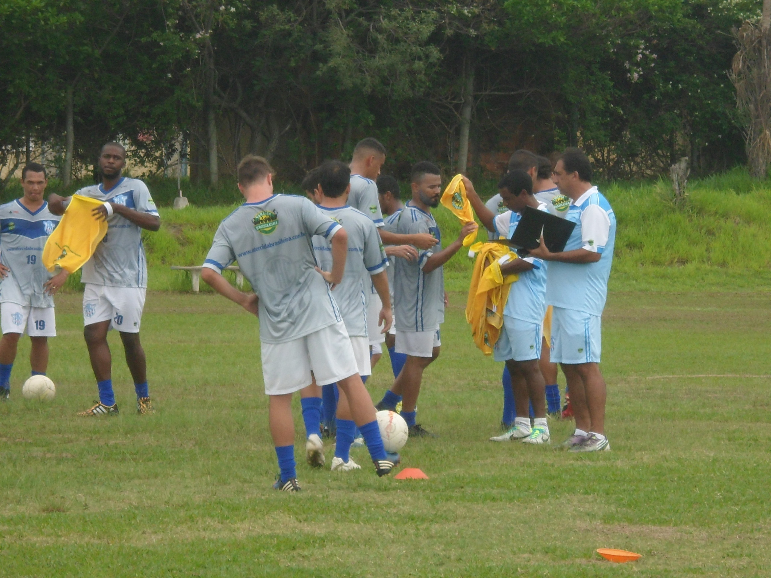
[[[21,199],[0,206],[0,399],[11,393],[10,378],[19,338],[25,331],[32,342],[32,375],[45,375],[48,338],[56,336],[53,295],[67,279],[42,264],[43,247],[59,217],[48,209],[43,193],[48,184],[45,167],[29,163],[22,169]]]

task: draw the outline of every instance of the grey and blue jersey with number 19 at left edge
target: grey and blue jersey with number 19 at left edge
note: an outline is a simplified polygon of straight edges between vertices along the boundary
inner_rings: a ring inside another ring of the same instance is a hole
[[[0,206],[0,263],[10,269],[0,281],[0,303],[53,307],[53,297],[43,291],[53,274],[43,267],[42,254],[61,218],[48,203],[34,213],[19,200]]]

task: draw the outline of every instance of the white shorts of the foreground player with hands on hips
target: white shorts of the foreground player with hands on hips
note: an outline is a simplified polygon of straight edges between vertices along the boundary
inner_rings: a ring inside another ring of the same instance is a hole
[[[338,321],[286,343],[261,343],[266,395],[285,395],[311,385],[327,385],[359,372],[351,338]],[[369,344],[367,346],[369,357]]]

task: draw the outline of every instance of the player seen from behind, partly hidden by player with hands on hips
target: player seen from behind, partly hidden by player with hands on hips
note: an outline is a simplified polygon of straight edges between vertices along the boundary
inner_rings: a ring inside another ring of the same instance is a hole
[[[359,368],[359,375],[362,381],[372,373],[369,361],[369,338],[367,335],[367,311],[366,294],[369,292],[370,279],[375,287],[377,294],[382,302],[381,310],[378,311],[377,321],[383,321],[382,332],[388,331],[392,322],[391,299],[389,296],[388,274],[385,267],[388,261],[385,258],[385,251],[380,244],[377,227],[361,211],[349,207],[346,204],[348,190],[350,188],[349,178],[351,170],[344,163],[339,161],[328,161],[315,171],[318,176],[318,183],[311,191],[311,197],[319,209],[324,211],[333,220],[340,223],[348,234],[348,257],[345,260],[345,274],[342,283],[335,287],[335,302],[340,307],[345,330],[348,331],[348,338],[351,339],[356,365]],[[313,237],[313,249],[319,267],[325,271],[332,271],[332,246],[325,237],[316,235]],[[379,323],[375,324],[379,326]],[[378,331],[376,329],[375,331]],[[305,405],[308,403],[321,403],[322,390],[318,385],[311,385],[308,388],[309,393],[315,396],[315,400],[304,398],[303,418],[306,416]],[[303,390],[303,393],[308,390]],[[348,472],[352,469],[359,469],[359,465],[351,459],[349,451],[355,438],[356,425],[352,421],[351,412],[348,408],[348,402],[345,395],[340,393],[340,400],[337,405],[335,431],[337,439],[335,442],[335,458],[332,459],[332,469],[342,472]],[[307,432],[318,432],[318,414],[309,416],[305,428]],[[316,447],[321,445],[321,439],[318,435],[315,439]],[[308,437],[308,445],[311,445],[311,437]],[[322,460],[313,459],[313,455],[308,452],[306,445],[306,455],[311,465],[322,465]],[[316,454],[318,455],[318,449]],[[323,455],[323,454],[322,454]],[[321,462],[321,463],[319,463]]]

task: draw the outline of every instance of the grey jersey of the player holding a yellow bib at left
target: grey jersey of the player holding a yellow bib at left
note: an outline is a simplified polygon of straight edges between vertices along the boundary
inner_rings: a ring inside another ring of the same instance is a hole
[[[158,217],[150,190],[139,179],[124,176],[110,190],[104,190],[102,185],[93,185],[79,190],[76,194],[109,201]],[[147,287],[147,260],[142,244],[142,227],[118,214],[109,217],[107,234],[96,247],[93,257],[83,265],[81,281],[109,287]]]

